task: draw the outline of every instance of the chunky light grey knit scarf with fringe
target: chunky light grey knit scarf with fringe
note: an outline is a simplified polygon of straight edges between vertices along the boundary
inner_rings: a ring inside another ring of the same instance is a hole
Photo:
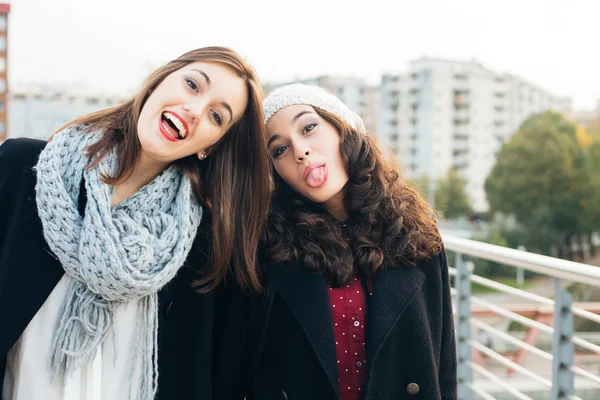
[[[113,313],[139,299],[130,389],[140,360],[137,400],[157,390],[157,292],[183,265],[202,217],[190,181],[171,166],[139,192],[111,208],[112,187],[101,173],[114,174],[117,151],[87,169],[86,148],[101,132],[83,127],[62,131],[48,143],[37,164],[36,200],[50,249],[73,278],[59,312],[50,368],[66,378],[94,358]],[[87,205],[78,212],[81,179]]]

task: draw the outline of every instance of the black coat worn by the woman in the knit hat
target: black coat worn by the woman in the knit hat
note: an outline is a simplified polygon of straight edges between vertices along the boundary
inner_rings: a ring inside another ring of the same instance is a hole
[[[215,350],[216,398],[339,399],[324,277],[287,264],[266,265],[264,273],[272,295],[232,297],[229,328]],[[445,252],[375,276],[365,329],[365,400],[457,399]],[[261,336],[264,349],[257,357]]]

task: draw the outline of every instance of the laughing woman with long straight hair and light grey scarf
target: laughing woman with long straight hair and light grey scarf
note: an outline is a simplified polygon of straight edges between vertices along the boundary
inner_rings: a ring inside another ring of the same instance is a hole
[[[207,399],[215,291],[260,288],[261,87],[190,51],[48,142],[0,147],[4,400]]]

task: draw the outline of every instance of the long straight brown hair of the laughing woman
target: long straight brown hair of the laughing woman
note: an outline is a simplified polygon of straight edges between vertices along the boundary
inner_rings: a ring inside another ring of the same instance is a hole
[[[231,274],[243,289],[260,290],[256,251],[269,208],[270,165],[262,89],[256,72],[239,54],[224,47],[192,50],[155,70],[125,103],[85,115],[61,130],[80,124],[86,124],[88,132],[102,130],[101,139],[88,148],[90,166],[117,146],[117,172],[104,181],[114,185],[127,180],[141,151],[137,121],[146,100],[167,76],[196,61],[233,68],[248,90],[244,115],[214,145],[210,157],[200,162],[192,155],[175,162],[190,178],[196,196],[211,214],[209,268],[196,284],[199,291],[208,292]]]

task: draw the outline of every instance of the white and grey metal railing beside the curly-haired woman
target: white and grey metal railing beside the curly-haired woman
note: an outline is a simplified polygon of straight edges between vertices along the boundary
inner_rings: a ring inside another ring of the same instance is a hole
[[[446,250],[454,253],[454,259],[449,259],[449,264],[450,274],[454,277],[451,291],[456,321],[459,399],[490,400],[496,399],[495,396],[505,396],[502,398],[532,400],[531,388],[536,387],[538,392],[548,394],[545,398],[575,400],[581,398],[576,393],[576,382],[586,382],[586,390],[591,388],[597,393],[593,398],[600,398],[600,364],[598,371],[592,372],[574,363],[576,348],[600,357],[600,346],[579,337],[573,328],[574,316],[600,324],[600,316],[597,314],[600,313],[600,307],[594,308],[592,312],[584,309],[585,306],[582,308],[573,305],[572,296],[566,289],[568,282],[600,288],[600,268],[455,236],[442,236]],[[551,277],[554,280],[553,288],[550,288],[551,294],[544,296],[477,276],[473,274],[474,264],[465,261],[465,256]],[[472,282],[510,296],[511,299],[519,299],[521,304],[511,307],[473,296]],[[496,320],[500,318],[502,321],[521,324],[527,329],[525,338],[518,338],[508,329],[508,325],[505,329],[492,326],[489,321],[477,317],[478,312]],[[493,350],[492,346],[473,338],[474,330],[503,341],[516,349],[516,353],[511,356]],[[535,346],[539,335],[549,335],[552,338],[549,351]],[[523,362],[526,355],[537,357],[540,362],[535,365],[546,364],[551,373],[540,373],[536,368],[528,366]],[[495,371],[486,368],[482,362],[484,357],[488,364],[493,362]],[[525,386],[528,388],[515,384],[517,376],[526,378]]]

